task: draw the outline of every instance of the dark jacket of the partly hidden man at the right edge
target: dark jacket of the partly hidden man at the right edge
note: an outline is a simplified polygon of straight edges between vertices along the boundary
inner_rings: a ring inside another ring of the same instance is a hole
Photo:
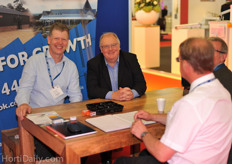
[[[221,84],[230,92],[232,98],[232,72],[227,66],[224,66],[213,73]]]

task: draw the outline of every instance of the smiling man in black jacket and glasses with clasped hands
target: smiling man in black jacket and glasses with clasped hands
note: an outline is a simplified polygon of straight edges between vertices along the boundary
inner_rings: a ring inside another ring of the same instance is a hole
[[[120,50],[120,40],[113,32],[100,37],[100,50],[87,62],[87,91],[90,99],[128,101],[142,96],[146,81],[137,57]],[[102,163],[112,163],[112,152],[101,153]]]

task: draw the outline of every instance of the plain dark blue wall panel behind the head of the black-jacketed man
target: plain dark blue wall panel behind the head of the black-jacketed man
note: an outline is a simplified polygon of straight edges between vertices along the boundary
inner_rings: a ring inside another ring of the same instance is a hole
[[[114,32],[121,49],[129,51],[129,17],[127,0],[98,0],[96,25],[96,55],[100,53],[99,38],[105,32]]]

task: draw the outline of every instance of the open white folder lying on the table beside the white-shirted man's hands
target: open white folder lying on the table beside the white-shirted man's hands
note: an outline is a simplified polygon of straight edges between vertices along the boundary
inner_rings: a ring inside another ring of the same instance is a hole
[[[122,130],[130,128],[134,122],[134,115],[137,111],[121,113],[121,114],[111,114],[104,115],[94,118],[86,119],[86,121],[93,126],[103,130],[104,132],[112,132],[116,130]],[[145,121],[144,124],[152,124],[154,121]]]

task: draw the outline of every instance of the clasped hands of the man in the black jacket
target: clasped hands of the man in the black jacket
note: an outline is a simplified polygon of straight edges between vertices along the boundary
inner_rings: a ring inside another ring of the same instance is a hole
[[[112,99],[119,100],[119,101],[128,101],[133,99],[133,92],[130,88],[119,88],[119,90],[113,92]]]

